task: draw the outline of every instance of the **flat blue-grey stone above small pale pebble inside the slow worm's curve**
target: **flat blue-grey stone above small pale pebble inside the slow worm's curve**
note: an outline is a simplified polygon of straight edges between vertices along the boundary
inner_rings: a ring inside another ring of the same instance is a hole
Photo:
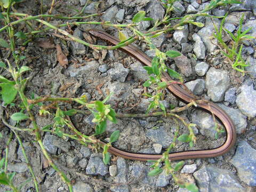
[[[165,127],[160,126],[158,129],[147,130],[146,137],[151,141],[162,145],[164,148],[169,147],[172,137],[167,133]]]

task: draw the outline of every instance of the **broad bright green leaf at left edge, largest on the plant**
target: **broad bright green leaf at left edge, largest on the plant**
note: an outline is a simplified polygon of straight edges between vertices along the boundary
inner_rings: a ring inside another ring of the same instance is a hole
[[[11,83],[1,83],[0,86],[2,88],[2,99],[5,103],[10,104],[18,93],[17,89]]]

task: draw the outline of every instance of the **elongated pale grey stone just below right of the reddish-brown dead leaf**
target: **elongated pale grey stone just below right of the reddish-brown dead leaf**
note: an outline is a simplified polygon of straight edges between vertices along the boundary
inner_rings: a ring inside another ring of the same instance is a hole
[[[67,68],[67,73],[70,77],[77,77],[79,75],[88,75],[92,73],[93,71],[96,72],[99,68],[99,62],[98,61],[89,61],[86,63],[86,65],[81,66],[79,68],[75,68],[73,65]]]

